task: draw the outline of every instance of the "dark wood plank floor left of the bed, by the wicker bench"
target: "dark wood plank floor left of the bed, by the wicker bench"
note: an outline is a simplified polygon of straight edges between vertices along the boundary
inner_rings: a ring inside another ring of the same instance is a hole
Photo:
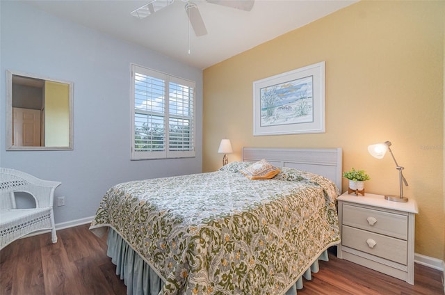
[[[19,239],[0,251],[0,294],[126,294],[106,256],[106,236],[99,239],[81,225]]]

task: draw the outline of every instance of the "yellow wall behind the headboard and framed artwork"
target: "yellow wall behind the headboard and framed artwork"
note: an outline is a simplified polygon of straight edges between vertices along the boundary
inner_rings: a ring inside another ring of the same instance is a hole
[[[243,146],[341,147],[343,170],[371,175],[367,192],[398,194],[391,157],[366,149],[391,141],[419,205],[415,251],[444,260],[444,14],[444,1],[361,1],[205,69],[204,172],[220,166],[221,138],[229,161]],[[320,61],[326,132],[253,136],[252,82]]]

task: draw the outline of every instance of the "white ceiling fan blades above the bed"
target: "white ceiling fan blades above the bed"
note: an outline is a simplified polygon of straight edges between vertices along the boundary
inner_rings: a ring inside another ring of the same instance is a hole
[[[169,6],[174,1],[175,0],[150,0],[149,3],[145,4],[144,6],[136,10],[133,10],[131,12],[131,15],[143,19],[149,15],[156,13],[162,8]],[[186,6],[184,8],[188,15],[188,20],[190,21],[193,27],[193,31],[195,31],[195,35],[197,35],[198,37],[202,35],[207,35],[207,29],[204,24],[204,21],[202,20],[201,13],[197,7],[197,4],[190,0],[182,0],[182,1],[186,3]],[[230,8],[250,11],[252,10],[255,0],[205,0],[205,1],[217,5],[227,6]]]

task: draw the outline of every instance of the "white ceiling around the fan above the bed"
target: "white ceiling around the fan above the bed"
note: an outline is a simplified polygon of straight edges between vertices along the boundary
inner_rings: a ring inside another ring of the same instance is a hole
[[[130,15],[149,1],[24,2],[204,69],[358,0],[256,0],[250,12],[193,0],[200,9],[208,34],[196,37],[190,26],[190,40],[184,0],[175,0],[145,19]]]

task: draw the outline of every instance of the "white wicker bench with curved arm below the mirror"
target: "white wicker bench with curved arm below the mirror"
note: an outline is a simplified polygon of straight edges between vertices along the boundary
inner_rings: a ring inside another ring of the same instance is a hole
[[[57,243],[54,224],[54,191],[61,182],[40,180],[19,170],[0,168],[0,250],[16,239],[38,230],[51,230]],[[15,193],[29,193],[35,208],[17,209]]]

